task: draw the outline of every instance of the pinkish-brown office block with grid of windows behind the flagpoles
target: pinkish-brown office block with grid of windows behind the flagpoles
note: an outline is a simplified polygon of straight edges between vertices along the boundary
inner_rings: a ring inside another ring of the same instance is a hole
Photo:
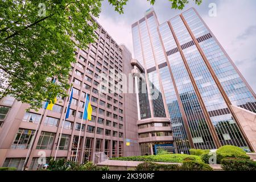
[[[115,92],[125,84],[119,73],[131,72],[131,53],[125,46],[119,46],[100,24],[95,32],[98,37],[96,43],[87,49],[76,49],[77,62],[72,63],[69,72],[73,99],[69,117],[64,122],[57,159],[76,159],[81,127],[77,154],[80,163],[93,160],[94,152],[104,152],[110,158],[140,154],[136,95]],[[105,92],[100,92],[98,85],[102,83],[109,85],[110,89],[114,85],[115,89],[109,90],[101,85],[101,91]],[[93,109],[92,121],[83,121],[81,126],[86,93]],[[26,166],[36,169],[39,157],[55,157],[68,97],[57,100],[53,110],[46,110],[40,119],[43,109],[26,111],[27,104],[13,97],[3,98],[0,102],[0,166],[22,169],[29,154]],[[42,123],[35,135],[40,121]]]

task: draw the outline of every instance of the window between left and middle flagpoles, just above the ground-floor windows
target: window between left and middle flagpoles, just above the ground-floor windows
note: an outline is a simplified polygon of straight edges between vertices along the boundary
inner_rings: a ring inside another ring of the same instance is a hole
[[[54,138],[55,138],[55,133],[42,131],[39,137],[36,149],[52,150],[52,144],[53,144]]]

